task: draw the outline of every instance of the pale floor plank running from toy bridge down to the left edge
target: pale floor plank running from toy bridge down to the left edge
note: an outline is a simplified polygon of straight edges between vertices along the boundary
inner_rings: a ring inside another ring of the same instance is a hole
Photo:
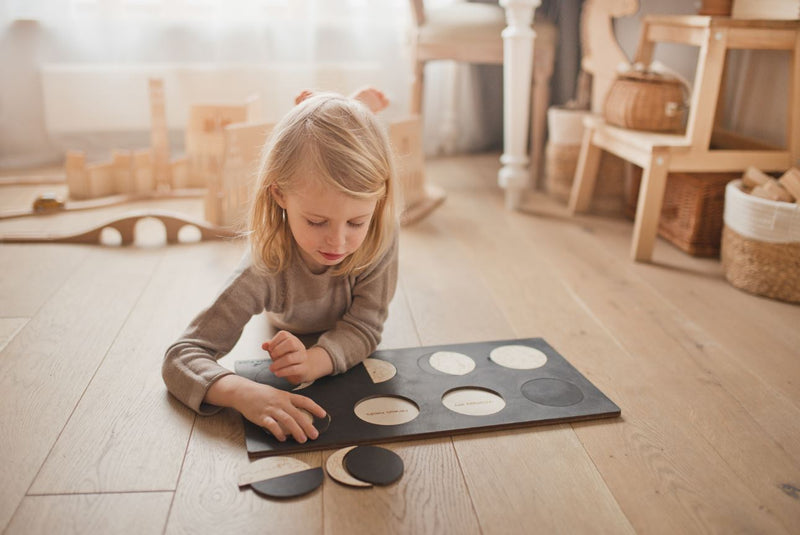
[[[159,252],[94,249],[0,353],[5,526],[150,279]]]

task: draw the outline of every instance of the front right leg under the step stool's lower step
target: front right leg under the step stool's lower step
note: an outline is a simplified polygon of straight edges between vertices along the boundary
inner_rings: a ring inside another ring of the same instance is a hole
[[[668,169],[669,153],[664,150],[654,150],[650,161],[642,171],[631,243],[631,257],[637,262],[649,262],[652,259]]]

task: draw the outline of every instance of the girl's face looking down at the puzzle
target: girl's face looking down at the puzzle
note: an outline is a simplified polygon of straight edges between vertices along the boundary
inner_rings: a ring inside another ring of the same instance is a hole
[[[286,210],[286,220],[300,256],[314,273],[341,263],[364,242],[375,199],[356,199],[316,180],[303,180],[291,191],[272,187]]]

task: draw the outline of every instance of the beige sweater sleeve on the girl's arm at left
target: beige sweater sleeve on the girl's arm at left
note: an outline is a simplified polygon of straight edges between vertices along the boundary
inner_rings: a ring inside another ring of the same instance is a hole
[[[219,411],[203,402],[214,381],[233,373],[217,360],[236,345],[244,326],[264,310],[274,293],[274,285],[245,257],[214,302],[167,349],[161,375],[170,393],[199,414]]]

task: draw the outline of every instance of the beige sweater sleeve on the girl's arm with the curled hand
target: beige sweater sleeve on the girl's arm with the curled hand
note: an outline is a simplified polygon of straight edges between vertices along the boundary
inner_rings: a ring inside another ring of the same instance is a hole
[[[343,373],[375,351],[381,341],[389,303],[397,288],[398,236],[381,259],[355,278],[353,300],[333,329],[317,345],[333,361],[333,373]]]

